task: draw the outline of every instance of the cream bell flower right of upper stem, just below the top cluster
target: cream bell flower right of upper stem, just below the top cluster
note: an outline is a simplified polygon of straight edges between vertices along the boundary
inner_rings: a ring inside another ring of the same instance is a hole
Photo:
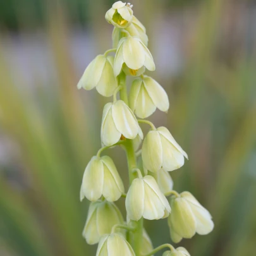
[[[129,99],[131,110],[138,118],[149,117],[157,108],[164,112],[169,109],[169,99],[164,88],[146,75],[133,81]]]

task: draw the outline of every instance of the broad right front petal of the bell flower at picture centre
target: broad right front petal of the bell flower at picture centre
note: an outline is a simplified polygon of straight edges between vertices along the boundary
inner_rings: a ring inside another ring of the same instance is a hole
[[[114,102],[112,111],[114,124],[119,133],[126,138],[135,138],[138,134],[138,122],[131,109],[119,100]]]

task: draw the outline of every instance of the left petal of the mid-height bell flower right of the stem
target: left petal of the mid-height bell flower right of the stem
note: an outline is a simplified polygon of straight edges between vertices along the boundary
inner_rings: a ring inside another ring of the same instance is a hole
[[[161,137],[157,131],[149,131],[142,144],[142,161],[146,169],[153,173],[162,166]]]

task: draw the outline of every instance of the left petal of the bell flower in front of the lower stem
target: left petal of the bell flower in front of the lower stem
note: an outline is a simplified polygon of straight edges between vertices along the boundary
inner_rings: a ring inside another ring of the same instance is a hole
[[[127,215],[133,221],[138,221],[142,217],[144,195],[144,182],[141,178],[136,178],[131,183],[125,200]]]

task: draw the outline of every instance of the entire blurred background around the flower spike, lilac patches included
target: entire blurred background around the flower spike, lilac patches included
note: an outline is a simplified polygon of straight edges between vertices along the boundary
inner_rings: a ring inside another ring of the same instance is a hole
[[[83,171],[101,147],[102,108],[112,99],[78,91],[87,64],[111,48],[104,15],[114,1],[0,2],[0,255],[89,256],[82,238]],[[166,89],[167,126],[190,160],[173,171],[210,210],[210,235],[183,240],[191,255],[256,253],[256,3],[133,1]],[[145,130],[147,131],[147,130]],[[128,188],[125,154],[113,157]],[[120,199],[125,216],[124,199]],[[167,220],[145,221],[156,247]],[[158,255],[161,255],[159,253]]]

